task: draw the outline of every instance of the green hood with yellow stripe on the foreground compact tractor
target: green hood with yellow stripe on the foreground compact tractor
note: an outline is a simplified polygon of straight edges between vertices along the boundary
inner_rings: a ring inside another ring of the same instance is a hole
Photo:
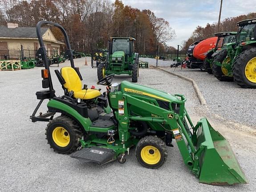
[[[149,96],[157,100],[175,102],[175,103],[184,103],[184,101],[178,99],[178,97],[171,95],[167,92],[158,91],[153,88],[149,88],[143,85],[133,84],[129,81],[122,81],[121,91],[123,93],[137,94],[141,96]]]

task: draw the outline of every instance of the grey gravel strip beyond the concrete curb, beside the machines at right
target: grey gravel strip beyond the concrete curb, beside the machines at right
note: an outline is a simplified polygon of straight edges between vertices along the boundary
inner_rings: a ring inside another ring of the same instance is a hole
[[[164,69],[195,80],[212,114],[256,129],[256,89],[244,89],[235,82],[219,81],[200,69]]]

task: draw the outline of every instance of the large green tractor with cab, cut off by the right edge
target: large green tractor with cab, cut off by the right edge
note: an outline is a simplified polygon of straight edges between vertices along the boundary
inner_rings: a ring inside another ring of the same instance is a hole
[[[237,26],[236,43],[216,53],[213,73],[219,80],[234,78],[242,88],[256,88],[256,19],[240,21]]]

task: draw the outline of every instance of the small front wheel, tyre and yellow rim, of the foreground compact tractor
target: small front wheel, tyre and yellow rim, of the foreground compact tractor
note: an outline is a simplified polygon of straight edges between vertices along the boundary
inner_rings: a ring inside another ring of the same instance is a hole
[[[136,149],[136,158],[146,168],[159,168],[167,160],[167,147],[156,136],[145,136],[139,140]]]

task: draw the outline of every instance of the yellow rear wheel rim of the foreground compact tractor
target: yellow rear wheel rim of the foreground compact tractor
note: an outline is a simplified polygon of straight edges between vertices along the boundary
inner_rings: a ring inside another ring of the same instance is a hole
[[[59,147],[66,147],[70,142],[69,132],[63,127],[56,127],[53,129],[53,141]]]

